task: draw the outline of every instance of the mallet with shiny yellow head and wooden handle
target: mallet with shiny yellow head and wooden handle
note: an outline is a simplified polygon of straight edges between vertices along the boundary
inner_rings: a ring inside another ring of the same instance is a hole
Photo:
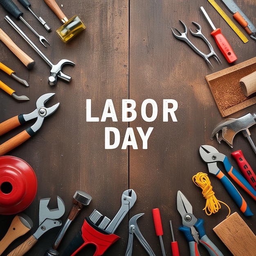
[[[56,30],[56,33],[64,43],[69,42],[77,34],[79,34],[86,28],[77,15],[75,15],[69,20],[54,0],[44,1],[63,23],[63,25]]]

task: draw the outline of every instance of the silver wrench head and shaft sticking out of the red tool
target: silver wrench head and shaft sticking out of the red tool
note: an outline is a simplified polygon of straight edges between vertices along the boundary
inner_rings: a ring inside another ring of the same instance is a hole
[[[128,213],[128,211],[135,204],[136,199],[137,199],[137,195],[133,189],[128,189],[124,191],[121,199],[122,201],[121,208],[117,212],[116,216],[112,219],[110,224],[106,227],[105,231],[107,231],[110,234],[113,234],[115,232],[118,225],[123,220],[124,216],[126,216],[126,213]]]

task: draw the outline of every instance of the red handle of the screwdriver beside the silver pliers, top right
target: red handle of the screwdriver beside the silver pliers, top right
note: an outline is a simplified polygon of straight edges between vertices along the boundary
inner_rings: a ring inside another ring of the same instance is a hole
[[[226,58],[227,62],[232,63],[236,61],[237,60],[236,54],[234,53],[233,49],[229,45],[229,42],[227,41],[225,36],[223,36],[223,34],[221,33],[221,30],[219,28],[215,29],[211,32],[211,35],[215,39],[216,44],[218,45],[224,57]]]

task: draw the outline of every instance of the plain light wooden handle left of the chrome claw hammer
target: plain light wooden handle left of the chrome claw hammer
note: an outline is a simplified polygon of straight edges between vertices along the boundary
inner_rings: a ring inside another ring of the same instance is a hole
[[[0,29],[0,40],[11,50],[11,52],[13,52],[13,54],[15,54],[20,59],[20,61],[28,69],[34,67],[35,61],[25,52],[23,52],[22,49],[20,49],[2,29]]]

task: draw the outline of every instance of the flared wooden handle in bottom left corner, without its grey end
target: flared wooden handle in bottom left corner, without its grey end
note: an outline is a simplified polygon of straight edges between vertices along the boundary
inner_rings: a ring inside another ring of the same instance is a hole
[[[20,220],[19,216],[16,215],[11,222],[7,233],[4,238],[0,241],[0,255],[4,250],[18,237],[26,234],[30,228],[26,227]]]

